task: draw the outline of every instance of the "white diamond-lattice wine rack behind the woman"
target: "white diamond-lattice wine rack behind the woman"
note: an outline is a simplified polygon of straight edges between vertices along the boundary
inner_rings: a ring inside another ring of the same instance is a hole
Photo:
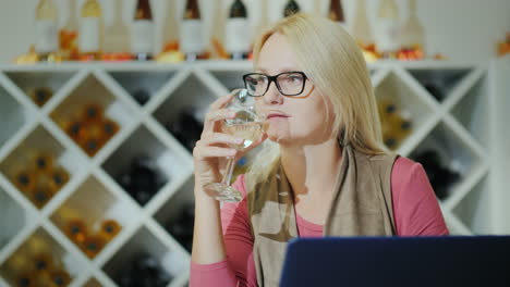
[[[143,273],[144,264],[153,266],[150,274],[157,270],[158,286],[185,286],[190,233],[172,224],[181,217],[190,224],[193,216],[193,159],[191,144],[170,130],[184,111],[203,121],[208,105],[241,87],[241,75],[251,67],[247,61],[0,66],[0,286],[14,286],[9,262],[34,237],[50,247],[70,286],[121,286],[130,280],[123,270]],[[428,61],[382,61],[369,68],[378,101],[393,104],[401,115],[391,121],[404,118],[397,152],[420,159],[432,150],[442,169],[458,175],[448,185],[435,178],[444,189],[440,205],[451,233],[508,233],[505,223],[495,223],[510,216],[499,200],[509,198],[499,170],[510,161],[498,157],[505,151],[495,144],[505,139],[496,122],[508,116],[498,107],[503,90],[494,88],[508,86],[498,80],[502,68]],[[38,88],[52,92],[39,105],[33,100]],[[90,103],[118,126],[95,153],[65,127]],[[15,183],[17,165],[34,152],[51,154],[69,174],[39,208]],[[157,171],[150,188],[125,182],[126,174],[143,173],[130,172],[139,159]],[[70,229],[70,219],[92,234],[105,220],[120,227],[108,240],[93,237],[99,241],[93,241],[98,249],[90,254],[76,237],[81,227]]]

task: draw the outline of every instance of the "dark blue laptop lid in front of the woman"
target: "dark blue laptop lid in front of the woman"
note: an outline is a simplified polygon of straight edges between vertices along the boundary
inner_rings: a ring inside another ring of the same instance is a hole
[[[298,238],[280,287],[305,286],[510,287],[510,236]]]

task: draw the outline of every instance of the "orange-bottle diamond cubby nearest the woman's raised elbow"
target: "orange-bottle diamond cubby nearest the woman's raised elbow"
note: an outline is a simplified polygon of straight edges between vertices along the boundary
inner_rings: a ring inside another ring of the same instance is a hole
[[[89,259],[136,223],[134,205],[89,176],[53,212],[51,221]]]

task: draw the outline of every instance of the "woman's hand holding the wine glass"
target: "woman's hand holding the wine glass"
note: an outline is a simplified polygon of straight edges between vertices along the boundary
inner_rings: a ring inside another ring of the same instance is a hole
[[[243,151],[229,147],[229,145],[241,145],[244,141],[243,138],[221,132],[222,122],[235,117],[235,112],[224,109],[232,100],[232,97],[233,93],[230,93],[216,100],[205,116],[201,140],[196,142],[193,149],[196,185],[204,186],[208,183],[221,182],[228,157],[235,157],[239,160],[266,139],[266,135],[264,135],[260,140],[253,142]],[[202,190],[202,188],[195,188],[195,190]]]

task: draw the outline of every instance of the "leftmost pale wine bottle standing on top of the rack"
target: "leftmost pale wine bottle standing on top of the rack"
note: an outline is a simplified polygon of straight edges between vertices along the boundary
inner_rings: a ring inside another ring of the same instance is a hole
[[[35,50],[39,61],[48,61],[59,49],[58,10],[53,0],[40,0],[36,10]]]

